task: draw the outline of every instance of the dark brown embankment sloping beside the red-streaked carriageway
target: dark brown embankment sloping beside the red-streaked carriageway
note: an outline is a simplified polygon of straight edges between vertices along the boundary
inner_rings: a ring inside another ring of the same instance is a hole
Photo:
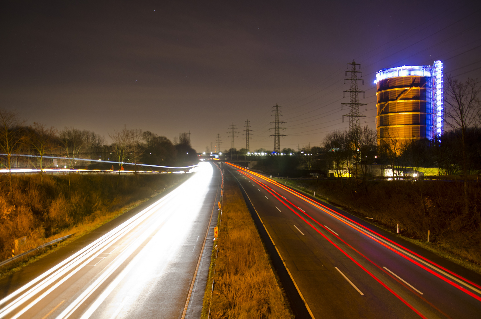
[[[459,182],[367,181],[367,187],[347,184],[342,188],[337,180],[287,180],[287,185],[310,195],[316,191],[316,198],[392,233],[399,224],[400,236],[479,273],[480,184],[468,184],[470,206],[466,213],[463,183]]]

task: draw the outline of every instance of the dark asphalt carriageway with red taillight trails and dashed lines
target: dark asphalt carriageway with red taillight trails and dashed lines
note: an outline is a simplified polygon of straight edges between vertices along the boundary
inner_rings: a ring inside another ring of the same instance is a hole
[[[224,167],[264,224],[308,316],[481,318],[479,274],[262,174]]]

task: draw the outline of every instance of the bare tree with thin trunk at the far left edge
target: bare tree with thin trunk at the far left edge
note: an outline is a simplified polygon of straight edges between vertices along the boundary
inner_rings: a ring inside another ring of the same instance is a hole
[[[15,154],[25,141],[22,125],[15,112],[0,109],[0,150],[7,157],[10,192],[12,192],[12,155]]]

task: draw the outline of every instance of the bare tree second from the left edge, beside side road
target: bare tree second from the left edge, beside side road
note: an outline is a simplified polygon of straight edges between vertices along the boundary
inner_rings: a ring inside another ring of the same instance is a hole
[[[51,154],[57,148],[54,142],[55,136],[57,135],[57,130],[53,126],[46,127],[44,124],[37,122],[33,122],[33,126],[30,127],[30,130],[30,144],[35,153],[37,153],[39,156],[38,164],[43,183],[43,168],[53,164],[52,162],[52,164],[44,166],[43,157],[46,154]]]

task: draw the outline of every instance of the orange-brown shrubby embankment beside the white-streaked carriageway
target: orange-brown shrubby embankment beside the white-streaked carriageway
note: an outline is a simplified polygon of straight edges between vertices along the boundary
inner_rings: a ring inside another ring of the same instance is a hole
[[[0,260],[12,256],[13,239],[26,236],[21,251],[74,234],[49,248],[38,250],[0,268],[0,278],[32,263],[52,250],[89,233],[182,181],[187,174],[38,174],[13,176],[8,192],[0,177]]]

